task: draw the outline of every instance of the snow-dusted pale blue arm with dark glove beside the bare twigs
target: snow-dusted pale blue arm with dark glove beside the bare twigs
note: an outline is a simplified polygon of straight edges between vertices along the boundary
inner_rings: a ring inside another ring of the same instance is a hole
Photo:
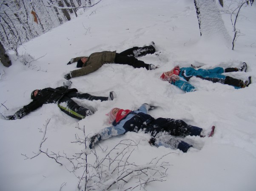
[[[125,133],[125,129],[123,127],[119,127],[117,125],[117,127],[106,127],[102,130],[100,130],[99,133],[95,134],[94,136],[92,136],[90,138],[90,149],[92,149],[92,147],[94,147],[94,144],[101,141],[101,140],[105,140],[108,138],[111,138],[112,136],[118,136],[118,135],[122,135]]]

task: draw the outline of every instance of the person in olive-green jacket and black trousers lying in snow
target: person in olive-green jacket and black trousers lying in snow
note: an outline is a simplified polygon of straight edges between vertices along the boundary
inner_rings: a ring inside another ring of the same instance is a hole
[[[146,68],[147,70],[153,70],[159,66],[154,64],[145,64],[143,61],[139,61],[137,57],[144,56],[146,54],[155,53],[155,43],[151,42],[151,45],[146,47],[133,47],[128,50],[123,51],[122,53],[116,53],[116,51],[103,51],[100,53],[92,53],[89,57],[77,57],[72,58],[68,64],[77,62],[77,70],[73,70],[70,73],[65,75],[65,79],[69,80],[70,78],[87,75],[91,72],[99,69],[102,64],[116,63],[116,64],[128,64],[134,66],[134,68]]]

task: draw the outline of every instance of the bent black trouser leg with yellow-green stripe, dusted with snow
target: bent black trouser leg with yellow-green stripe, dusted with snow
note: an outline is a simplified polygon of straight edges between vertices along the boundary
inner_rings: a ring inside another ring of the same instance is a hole
[[[93,111],[78,105],[66,96],[60,100],[58,106],[61,111],[76,119],[84,119],[86,116],[94,114]]]

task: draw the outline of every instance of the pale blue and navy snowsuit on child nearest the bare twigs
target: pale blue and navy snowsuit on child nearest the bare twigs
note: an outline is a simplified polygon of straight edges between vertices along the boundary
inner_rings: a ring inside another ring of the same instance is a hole
[[[158,118],[154,119],[148,113],[148,105],[143,104],[137,111],[131,111],[119,122],[114,121],[113,126],[105,127],[96,134],[97,138],[94,143],[110,138],[112,136],[118,136],[125,134],[128,131],[138,132],[139,130],[145,133],[151,133],[151,136],[156,136],[157,133],[165,132],[172,136],[199,136],[202,128],[195,127],[186,124],[182,120]],[[161,144],[162,145],[162,144]],[[156,146],[161,146],[160,144]],[[177,144],[176,149],[180,149],[183,152],[192,147],[192,145],[180,141]]]

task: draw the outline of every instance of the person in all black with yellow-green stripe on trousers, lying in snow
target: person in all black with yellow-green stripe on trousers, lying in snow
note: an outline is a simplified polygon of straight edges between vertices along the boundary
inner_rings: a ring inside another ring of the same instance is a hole
[[[7,116],[7,119],[14,120],[20,119],[23,116],[27,115],[31,111],[41,107],[46,103],[57,103],[58,107],[61,111],[65,112],[71,117],[77,119],[83,119],[85,116],[92,115],[94,112],[78,105],[71,98],[78,98],[81,100],[113,100],[117,97],[114,91],[109,93],[109,97],[97,97],[87,93],[80,94],[77,92],[77,89],[69,89],[71,86],[71,81],[63,84],[64,86],[60,86],[58,88],[45,88],[45,89],[36,89],[31,93],[31,99],[33,100],[28,105],[25,105],[19,111],[14,113],[12,116]]]

